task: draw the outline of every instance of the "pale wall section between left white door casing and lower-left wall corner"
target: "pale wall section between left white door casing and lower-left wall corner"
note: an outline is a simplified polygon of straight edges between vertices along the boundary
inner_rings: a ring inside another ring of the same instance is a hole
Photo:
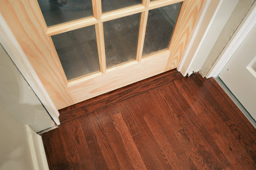
[[[0,102],[35,132],[53,127],[52,118],[1,45],[0,61]]]

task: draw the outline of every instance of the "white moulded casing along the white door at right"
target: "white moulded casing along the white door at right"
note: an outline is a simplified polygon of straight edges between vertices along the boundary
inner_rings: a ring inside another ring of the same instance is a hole
[[[228,63],[229,59],[232,57],[234,52],[236,52],[239,45],[250,32],[254,24],[256,24],[256,3],[252,5],[251,9],[237,28],[230,41],[217,58],[210,71],[206,74],[206,78],[217,77],[219,75],[226,63]]]

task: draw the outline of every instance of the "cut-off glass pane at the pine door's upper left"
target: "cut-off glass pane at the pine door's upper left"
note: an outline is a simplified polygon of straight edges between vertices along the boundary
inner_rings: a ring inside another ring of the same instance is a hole
[[[93,16],[91,0],[37,0],[47,26]]]

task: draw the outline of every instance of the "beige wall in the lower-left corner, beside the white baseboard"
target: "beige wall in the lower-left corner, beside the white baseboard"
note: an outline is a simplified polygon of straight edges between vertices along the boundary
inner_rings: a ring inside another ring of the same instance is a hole
[[[33,170],[27,131],[0,103],[0,170]]]

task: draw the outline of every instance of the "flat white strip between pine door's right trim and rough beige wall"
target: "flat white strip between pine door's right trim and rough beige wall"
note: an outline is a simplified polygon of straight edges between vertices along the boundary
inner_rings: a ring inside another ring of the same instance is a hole
[[[219,10],[202,40],[202,45],[199,47],[197,54],[195,54],[195,59],[188,70],[189,75],[202,67],[238,2],[239,0],[223,0],[221,2]]]

